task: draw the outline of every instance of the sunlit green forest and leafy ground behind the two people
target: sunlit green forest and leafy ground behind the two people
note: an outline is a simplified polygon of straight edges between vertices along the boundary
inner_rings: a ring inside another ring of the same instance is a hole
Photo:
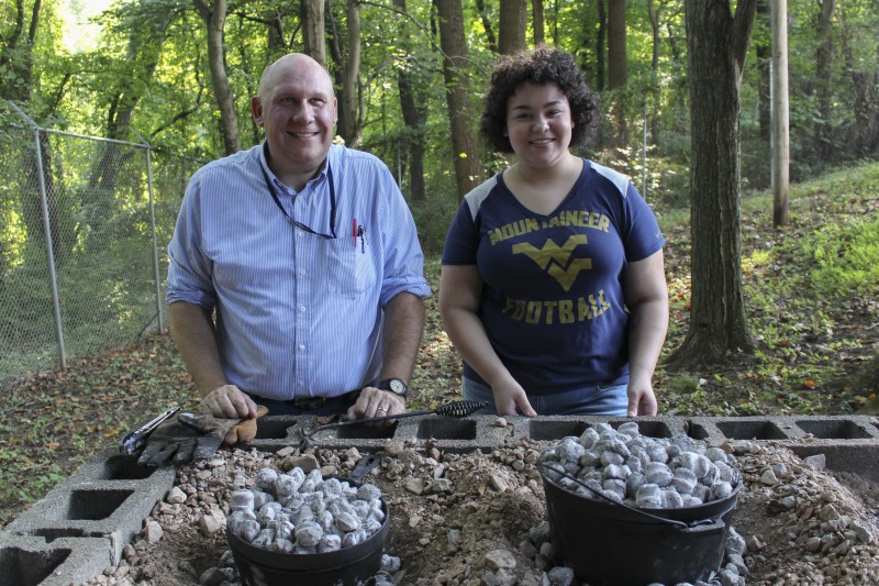
[[[668,241],[665,358],[692,350],[658,372],[665,412],[875,409],[876,2],[787,2],[789,172],[802,187],[782,224],[770,191],[768,1],[131,0],[84,20],[89,10],[76,0],[0,8],[0,460],[16,463],[4,466],[4,508],[38,498],[138,418],[187,400],[173,349],[151,335],[163,309],[135,246],[146,240],[164,255],[189,174],[262,140],[249,97],[290,51],[325,63],[341,139],[397,177],[434,285],[460,197],[508,164],[476,133],[491,66],[542,42],[571,52],[604,113],[599,141],[579,154],[627,174]],[[731,112],[734,124],[705,130]],[[122,142],[146,145],[151,166],[132,167]],[[717,144],[726,152],[711,151]],[[154,200],[155,235],[144,220]],[[702,232],[698,218],[709,220]],[[708,242],[705,229],[721,237]],[[53,336],[29,329],[52,330],[47,248],[63,285],[67,372],[53,372]],[[714,265],[716,287],[699,269]],[[699,313],[715,308],[733,309]],[[434,310],[416,373],[425,403],[454,394],[457,376]]]

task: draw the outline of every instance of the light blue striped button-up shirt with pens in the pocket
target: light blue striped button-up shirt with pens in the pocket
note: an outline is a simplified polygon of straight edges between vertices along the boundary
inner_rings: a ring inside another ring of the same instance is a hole
[[[168,303],[215,308],[229,382],[268,399],[330,397],[375,382],[382,309],[403,291],[431,295],[415,223],[387,166],[340,145],[327,163],[335,240],[294,226],[263,173],[290,218],[330,234],[326,166],[297,194],[258,145],[192,176],[168,246]]]

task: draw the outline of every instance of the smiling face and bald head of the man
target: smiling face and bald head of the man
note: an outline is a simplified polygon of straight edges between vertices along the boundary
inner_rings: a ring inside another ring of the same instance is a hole
[[[336,98],[327,73],[304,55],[288,55],[271,66],[254,119],[268,142],[270,165],[282,179],[315,173],[333,142]]]

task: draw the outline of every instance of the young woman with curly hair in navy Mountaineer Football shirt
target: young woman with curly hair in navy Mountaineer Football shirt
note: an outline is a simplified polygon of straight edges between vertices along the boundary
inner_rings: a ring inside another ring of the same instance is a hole
[[[627,178],[571,154],[598,115],[570,54],[539,47],[494,69],[481,132],[515,163],[465,197],[439,283],[464,397],[489,412],[657,412],[665,241]]]

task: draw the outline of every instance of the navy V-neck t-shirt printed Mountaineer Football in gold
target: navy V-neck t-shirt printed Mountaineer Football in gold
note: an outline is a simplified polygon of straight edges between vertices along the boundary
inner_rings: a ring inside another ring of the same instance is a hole
[[[446,235],[444,265],[476,265],[479,319],[530,395],[628,382],[622,278],[665,241],[623,175],[586,161],[549,215],[526,209],[498,174],[465,197]],[[455,291],[443,291],[455,295]],[[483,383],[464,364],[468,378]]]

